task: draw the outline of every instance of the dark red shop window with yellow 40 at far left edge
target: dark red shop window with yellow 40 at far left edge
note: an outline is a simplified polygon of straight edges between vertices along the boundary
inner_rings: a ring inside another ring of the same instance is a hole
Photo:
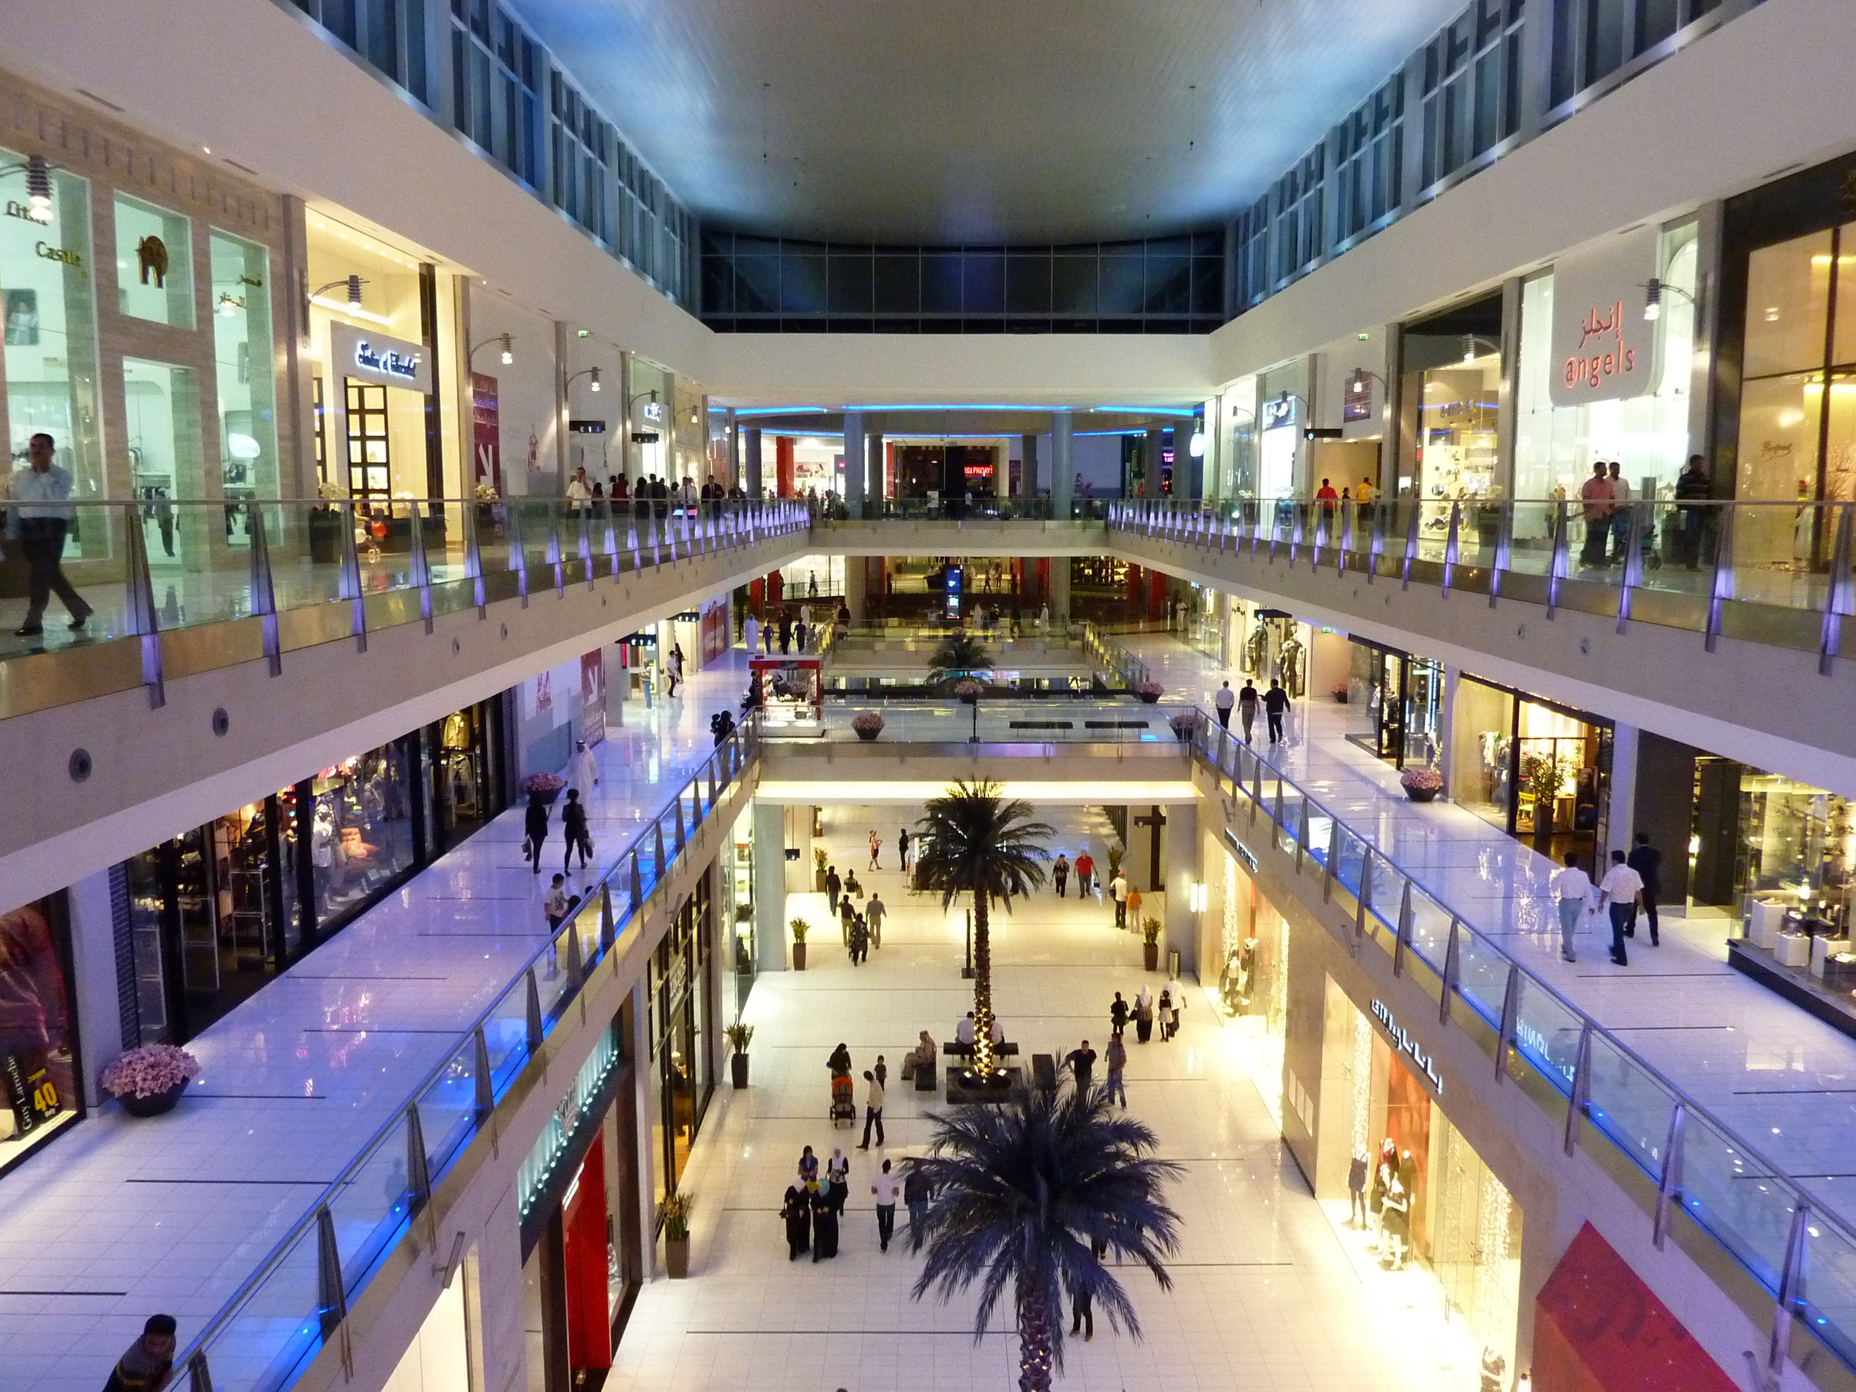
[[[0,913],[0,1171],[82,1115],[63,893]]]

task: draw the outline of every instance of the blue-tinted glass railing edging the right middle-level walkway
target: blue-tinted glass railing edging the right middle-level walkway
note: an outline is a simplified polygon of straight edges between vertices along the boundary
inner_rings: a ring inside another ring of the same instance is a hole
[[[1351,917],[1353,950],[1377,947],[1396,974],[1502,1062],[1498,1075],[1565,1125],[1566,1153],[1604,1138],[1657,1186],[1656,1242],[1670,1206],[1726,1249],[1784,1308],[1856,1366],[1856,1227],[1795,1184],[1745,1136],[1511,958],[1492,935],[1347,828],[1255,748],[1203,715],[1193,757],[1229,785],[1240,841],[1273,843]],[[1245,837],[1245,824],[1251,828]],[[1810,1270],[1810,1282],[1802,1273]],[[1780,1308],[1780,1307],[1774,1307]]]

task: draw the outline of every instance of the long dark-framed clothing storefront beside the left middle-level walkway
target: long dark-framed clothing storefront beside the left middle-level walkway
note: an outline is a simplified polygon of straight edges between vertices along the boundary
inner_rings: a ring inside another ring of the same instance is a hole
[[[503,702],[323,768],[117,867],[137,1036],[184,1043],[509,804]]]

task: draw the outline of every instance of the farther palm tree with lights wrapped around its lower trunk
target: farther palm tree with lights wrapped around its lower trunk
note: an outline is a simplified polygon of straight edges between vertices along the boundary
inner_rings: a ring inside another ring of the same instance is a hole
[[[1050,857],[1045,839],[1056,835],[1030,820],[1028,802],[1006,802],[999,793],[999,783],[960,780],[928,802],[928,815],[919,824],[926,839],[917,861],[922,885],[941,891],[943,909],[958,895],[973,895],[973,1073],[980,1082],[995,1073],[987,909],[997,898],[1012,913],[1013,896],[1030,895],[1043,883],[1038,861]]]

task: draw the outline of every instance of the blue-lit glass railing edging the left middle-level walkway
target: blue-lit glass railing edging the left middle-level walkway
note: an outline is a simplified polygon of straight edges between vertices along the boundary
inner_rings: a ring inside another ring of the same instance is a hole
[[[349,1305],[536,1060],[568,1006],[666,880],[685,843],[759,755],[737,729],[607,867],[574,915],[516,974],[449,1056],[393,1112],[310,1210],[174,1359],[212,1392],[282,1392],[338,1334]]]

